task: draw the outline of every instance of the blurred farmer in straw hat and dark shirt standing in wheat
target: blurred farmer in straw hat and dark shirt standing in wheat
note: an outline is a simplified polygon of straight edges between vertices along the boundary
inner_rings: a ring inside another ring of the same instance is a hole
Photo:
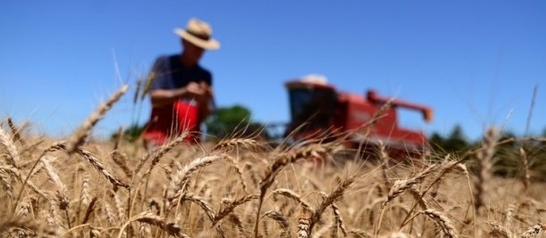
[[[182,53],[160,56],[150,72],[151,117],[144,131],[147,145],[161,145],[189,132],[185,141],[199,142],[199,125],[214,110],[213,77],[199,65],[206,50],[217,50],[205,21],[190,19],[186,29],[174,29],[181,37]]]

